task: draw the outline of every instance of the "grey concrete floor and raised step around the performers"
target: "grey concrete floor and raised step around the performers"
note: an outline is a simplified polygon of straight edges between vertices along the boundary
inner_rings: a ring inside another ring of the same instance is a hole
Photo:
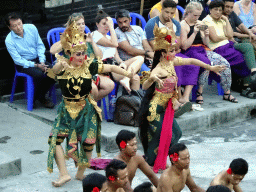
[[[192,176],[198,185],[206,189],[214,175],[222,169],[227,169],[233,158],[243,157],[249,162],[250,168],[242,182],[242,188],[244,191],[254,192],[256,120],[251,119],[251,114],[254,115],[256,101],[234,93],[239,103],[230,103],[223,101],[216,92],[215,86],[205,91],[204,111],[189,112],[177,119],[183,131],[181,141],[187,144],[191,154]],[[60,95],[57,95],[59,100]],[[53,188],[51,181],[58,178],[56,165],[52,174],[46,171],[47,138],[51,124],[57,115],[56,109],[57,107],[45,109],[39,106],[32,112],[28,112],[24,100],[17,100],[13,104],[0,103],[1,158],[5,155],[11,158],[10,160],[21,160],[21,173],[16,176],[2,177],[0,191],[82,191],[81,182],[75,179],[62,188]],[[105,147],[102,150],[103,158],[113,158],[116,155],[117,150],[113,139],[121,129],[137,132],[135,127],[103,121],[102,137]],[[142,154],[141,148],[138,153]],[[0,160],[0,165],[3,163]],[[74,178],[76,169],[73,162],[69,160],[67,165]],[[86,173],[90,172],[93,170],[86,171]],[[99,173],[104,174],[103,171]],[[159,174],[158,176],[160,177]],[[133,187],[146,180],[145,176],[138,171]],[[183,191],[186,192],[188,189]]]

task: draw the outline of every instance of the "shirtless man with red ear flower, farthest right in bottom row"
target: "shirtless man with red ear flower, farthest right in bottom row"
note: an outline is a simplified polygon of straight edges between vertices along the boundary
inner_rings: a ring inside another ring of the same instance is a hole
[[[248,163],[242,158],[234,159],[228,170],[220,172],[211,182],[211,186],[224,185],[231,191],[241,192],[239,183],[244,179],[248,172]]]

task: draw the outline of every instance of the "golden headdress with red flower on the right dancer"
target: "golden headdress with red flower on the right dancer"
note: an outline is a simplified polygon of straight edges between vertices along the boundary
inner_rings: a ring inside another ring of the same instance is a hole
[[[167,27],[159,28],[157,24],[154,27],[154,51],[165,49],[169,50],[177,45],[177,37],[174,31],[168,29]]]

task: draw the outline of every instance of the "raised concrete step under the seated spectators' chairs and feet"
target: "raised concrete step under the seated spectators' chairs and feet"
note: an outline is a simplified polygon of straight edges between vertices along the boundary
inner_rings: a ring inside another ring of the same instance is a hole
[[[251,111],[256,111],[256,100],[248,99],[240,96],[239,93],[232,92],[232,95],[238,99],[238,103],[224,101],[222,96],[218,96],[215,85],[207,86],[205,88],[203,97],[204,104],[202,107],[204,111],[188,112],[179,118],[176,118],[183,136],[218,128],[219,125],[230,122],[238,122],[251,118]],[[60,91],[57,92],[57,99],[60,102]],[[26,115],[30,115],[40,121],[52,125],[54,119],[57,117],[57,106],[55,109],[36,108],[31,112],[26,110],[26,102],[23,100],[15,101],[9,106],[22,111]],[[104,117],[104,115],[103,115]],[[128,129],[138,135],[138,128],[131,126],[117,125],[114,123],[102,122],[102,150],[107,152],[115,152],[118,150],[115,142],[117,133],[122,129]]]

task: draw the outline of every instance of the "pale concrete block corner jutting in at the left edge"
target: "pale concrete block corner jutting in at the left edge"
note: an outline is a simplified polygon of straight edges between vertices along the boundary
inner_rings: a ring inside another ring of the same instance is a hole
[[[4,152],[0,152],[0,178],[18,175],[21,173],[21,159],[14,158]]]

